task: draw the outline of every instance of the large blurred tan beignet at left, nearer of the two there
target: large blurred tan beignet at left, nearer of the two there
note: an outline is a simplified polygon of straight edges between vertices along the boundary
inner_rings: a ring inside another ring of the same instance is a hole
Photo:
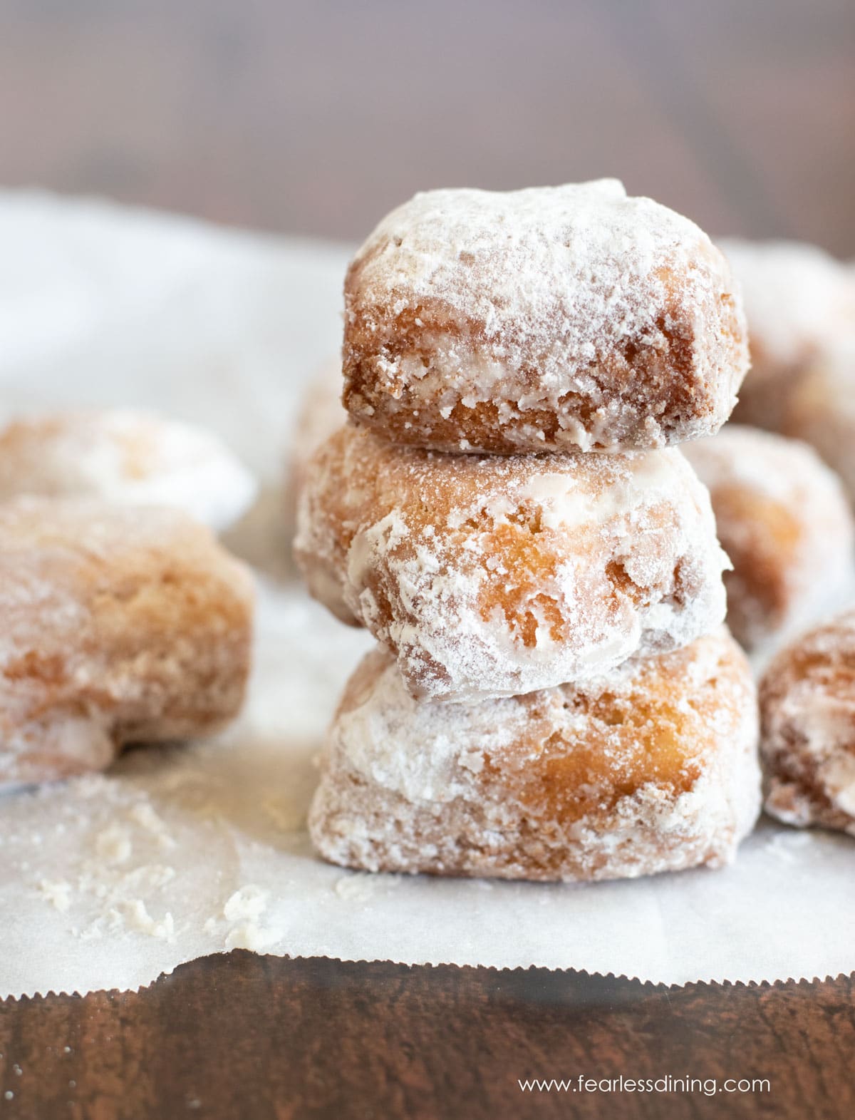
[[[237,715],[253,581],[179,511],[0,505],[0,788],[101,769]]]

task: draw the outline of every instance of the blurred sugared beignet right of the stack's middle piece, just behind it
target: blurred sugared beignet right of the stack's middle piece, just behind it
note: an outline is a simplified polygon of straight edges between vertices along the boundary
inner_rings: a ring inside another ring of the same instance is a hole
[[[684,454],[710,488],[727,625],[746,648],[816,620],[853,582],[852,513],[840,480],[806,444],[726,424]]]

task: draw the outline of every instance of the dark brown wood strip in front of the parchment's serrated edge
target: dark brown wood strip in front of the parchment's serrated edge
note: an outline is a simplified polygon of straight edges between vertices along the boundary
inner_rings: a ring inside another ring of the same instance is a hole
[[[236,951],[141,992],[7,1001],[0,1114],[848,1120],[854,995],[851,978],[665,988]],[[517,1083],[580,1074],[769,1079],[770,1091],[524,1093]]]

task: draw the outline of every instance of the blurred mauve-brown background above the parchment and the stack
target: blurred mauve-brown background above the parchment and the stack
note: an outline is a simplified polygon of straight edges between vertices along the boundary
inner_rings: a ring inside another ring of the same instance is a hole
[[[620,176],[855,254],[853,0],[0,0],[0,183],[360,239]]]

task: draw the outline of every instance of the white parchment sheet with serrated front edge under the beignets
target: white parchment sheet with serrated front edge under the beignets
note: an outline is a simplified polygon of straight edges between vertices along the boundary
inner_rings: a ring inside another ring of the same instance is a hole
[[[0,411],[135,403],[271,484],[335,353],[345,250],[0,193]],[[855,969],[855,841],[763,823],[734,867],[631,883],[369,876],[316,859],[313,757],[365,634],[261,579],[250,700],[219,738],[0,799],[0,997],[137,988],[234,946],[643,980]]]

